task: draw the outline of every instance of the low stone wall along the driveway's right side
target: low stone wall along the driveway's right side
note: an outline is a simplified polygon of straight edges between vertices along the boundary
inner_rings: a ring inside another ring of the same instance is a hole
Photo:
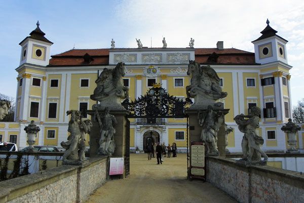
[[[304,175],[270,166],[242,166],[207,157],[207,182],[239,202],[304,202]]]

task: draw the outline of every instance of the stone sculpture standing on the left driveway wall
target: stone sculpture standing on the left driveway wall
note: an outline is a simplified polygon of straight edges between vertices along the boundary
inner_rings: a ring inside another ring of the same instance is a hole
[[[85,134],[90,133],[92,123],[90,120],[83,120],[80,111],[70,110],[66,115],[71,115],[67,131],[70,133],[67,142],[61,142],[60,145],[65,148],[62,157],[63,165],[81,165],[85,159]]]

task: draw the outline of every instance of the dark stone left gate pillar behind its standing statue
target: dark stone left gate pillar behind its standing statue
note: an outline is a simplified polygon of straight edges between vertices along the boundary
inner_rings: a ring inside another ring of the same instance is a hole
[[[89,115],[94,117],[95,111],[87,111]],[[103,113],[103,110],[98,111],[98,113]],[[110,114],[114,115],[117,120],[117,125],[115,126],[115,134],[113,136],[116,149],[112,157],[123,157],[126,158],[126,136],[127,136],[127,110],[110,110]],[[97,156],[97,150],[99,148],[100,139],[100,128],[97,121],[92,120],[93,126],[91,127],[90,133],[90,157]],[[129,149],[128,149],[129,150]],[[125,159],[126,160],[126,159]],[[125,178],[125,173],[123,175]]]

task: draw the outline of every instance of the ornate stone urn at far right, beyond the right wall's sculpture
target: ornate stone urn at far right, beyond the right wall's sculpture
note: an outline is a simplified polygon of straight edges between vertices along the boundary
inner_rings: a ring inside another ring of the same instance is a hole
[[[287,153],[297,153],[299,150],[297,150],[296,147],[296,133],[301,129],[300,126],[296,125],[292,122],[292,119],[288,119],[288,123],[283,125],[281,127],[281,130],[283,130],[285,133],[287,133],[287,143],[289,145],[289,149],[287,150]]]

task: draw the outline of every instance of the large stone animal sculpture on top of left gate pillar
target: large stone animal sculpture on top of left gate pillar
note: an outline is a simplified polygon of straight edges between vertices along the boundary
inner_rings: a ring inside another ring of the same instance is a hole
[[[125,63],[123,62],[117,63],[115,69],[103,69],[95,81],[97,87],[94,94],[90,96],[92,100],[100,101],[100,105],[97,105],[99,110],[104,107],[124,109],[121,105],[121,99],[129,96],[129,89],[123,83],[125,71]]]

